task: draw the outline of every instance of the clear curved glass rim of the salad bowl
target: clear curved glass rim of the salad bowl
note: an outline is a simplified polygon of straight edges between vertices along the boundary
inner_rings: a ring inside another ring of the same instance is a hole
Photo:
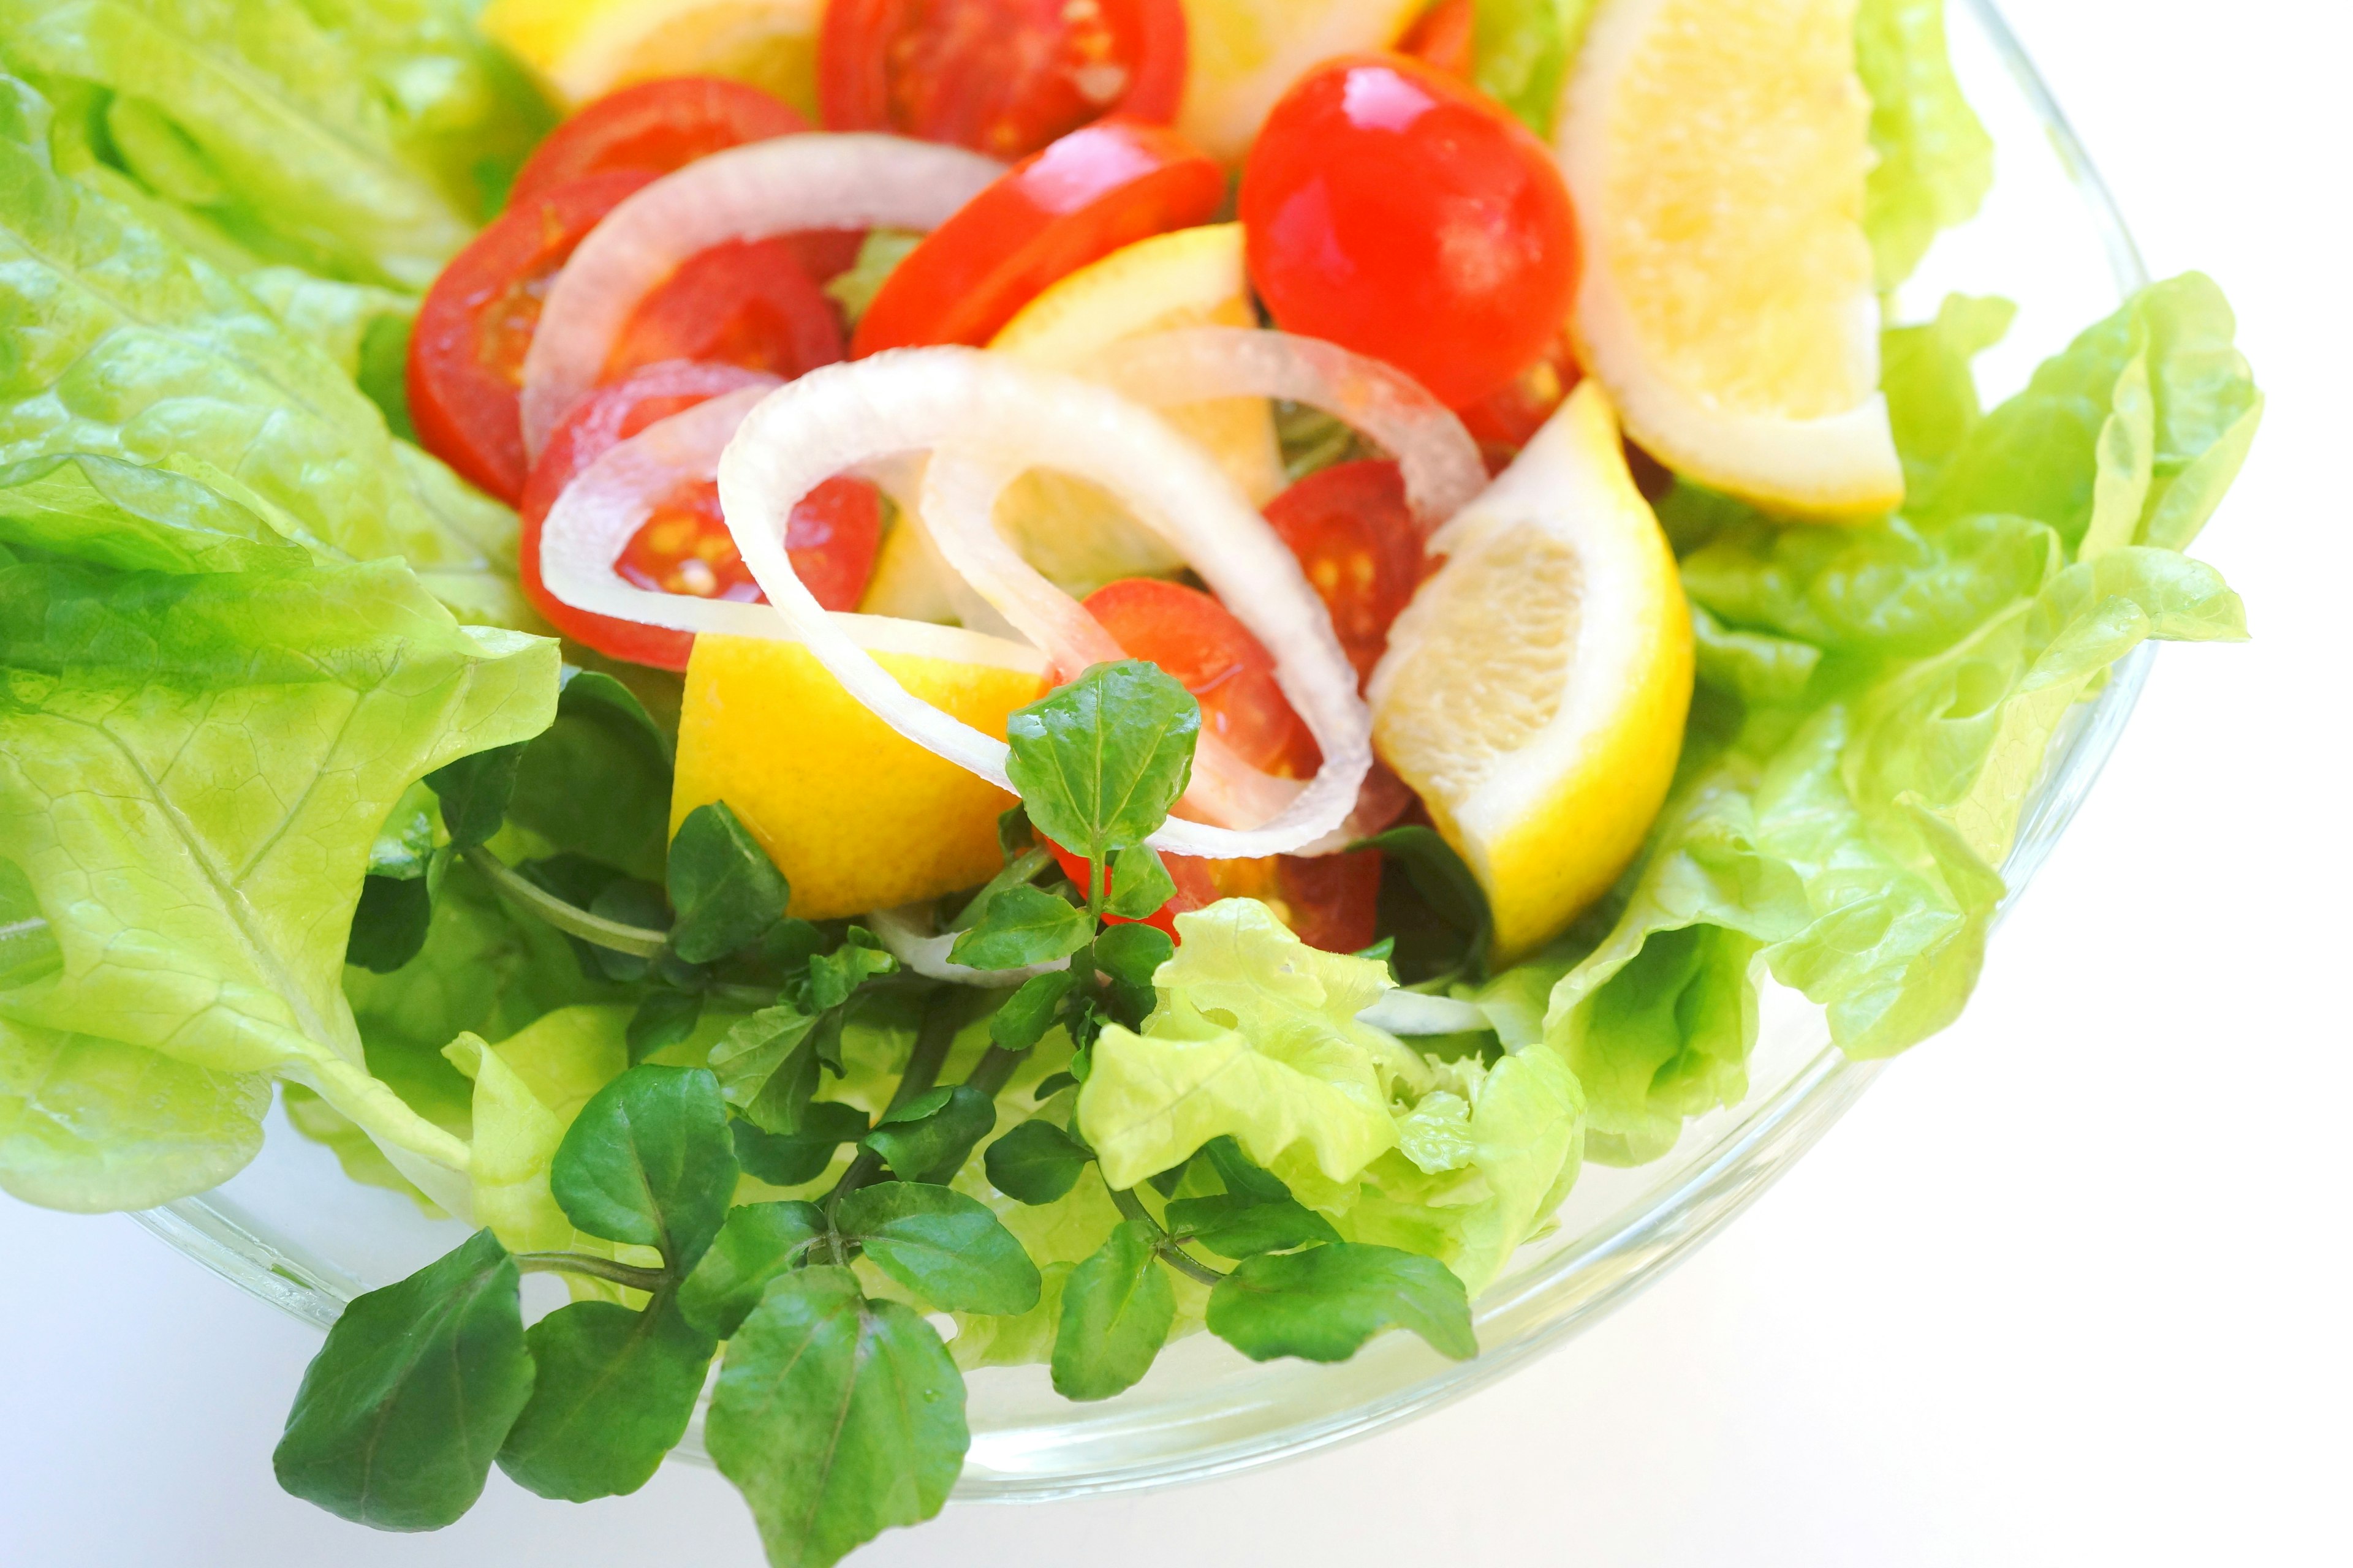
[[[2052,150],[2099,230],[2118,294],[2144,287],[2148,273],[2115,200],[2019,47],[2009,24],[1991,0],[1962,0],[1962,9],[1969,12],[2019,94],[2042,120]],[[2120,661],[2106,689],[2071,715],[2061,736],[2045,752],[2042,776],[2019,823],[2017,842],[2002,860],[2002,879],[2009,891],[1995,919],[2017,903],[2089,797],[2139,703],[2153,656],[2155,649],[2144,644]],[[1849,1063],[1835,1046],[1824,1046],[1678,1187],[1649,1201],[1626,1225],[1595,1234],[1584,1246],[1548,1260],[1541,1269],[1511,1276],[1482,1295],[1473,1314],[1482,1342],[1475,1361],[1367,1399],[1341,1415],[1275,1427],[1176,1458],[1113,1465],[1066,1479],[991,1474],[967,1467],[953,1497],[960,1502],[1047,1502],[1207,1481],[1369,1436],[1452,1403],[1558,1347],[1661,1279],[1779,1180],[1854,1105],[1882,1067],[1885,1063]],[[318,1328],[334,1324],[353,1295],[351,1281],[339,1279],[336,1269],[318,1267],[271,1246],[219,1213],[205,1197],[136,1211],[132,1218],[221,1279]],[[689,1432],[678,1458],[708,1462],[696,1436]]]

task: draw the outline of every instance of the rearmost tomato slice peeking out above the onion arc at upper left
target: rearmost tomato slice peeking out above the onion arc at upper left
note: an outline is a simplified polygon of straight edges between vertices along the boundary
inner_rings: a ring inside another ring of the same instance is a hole
[[[748,82],[671,75],[607,92],[532,150],[508,205],[612,169],[668,174],[746,141],[809,129],[798,108]]]

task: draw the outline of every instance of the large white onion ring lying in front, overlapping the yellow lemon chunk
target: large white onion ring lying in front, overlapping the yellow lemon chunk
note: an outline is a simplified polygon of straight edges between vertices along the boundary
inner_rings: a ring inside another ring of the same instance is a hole
[[[720,458],[720,510],[744,564],[809,651],[885,724],[1009,790],[1007,748],[922,703],[845,637],[793,574],[793,503],[842,468],[948,442],[1089,480],[1181,550],[1275,656],[1275,682],[1322,750],[1322,769],[1254,827],[1172,818],[1155,849],[1214,860],[1297,851],[1348,816],[1372,766],[1372,719],[1322,599],[1233,480],[1158,416],[1101,386],[974,348],[904,348],[828,364],[776,388]]]

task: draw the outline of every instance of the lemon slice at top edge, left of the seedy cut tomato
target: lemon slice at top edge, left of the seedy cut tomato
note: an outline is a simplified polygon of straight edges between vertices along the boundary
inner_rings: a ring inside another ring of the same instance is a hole
[[[567,103],[661,75],[725,75],[816,118],[824,0],[492,0],[485,33]]]

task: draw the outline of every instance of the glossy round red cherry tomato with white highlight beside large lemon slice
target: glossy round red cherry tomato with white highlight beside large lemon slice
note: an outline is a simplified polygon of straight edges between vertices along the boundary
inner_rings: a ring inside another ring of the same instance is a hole
[[[1577,289],[1551,150],[1402,54],[1299,78],[1249,148],[1240,212],[1278,327],[1388,360],[1449,409],[1532,364]]]

